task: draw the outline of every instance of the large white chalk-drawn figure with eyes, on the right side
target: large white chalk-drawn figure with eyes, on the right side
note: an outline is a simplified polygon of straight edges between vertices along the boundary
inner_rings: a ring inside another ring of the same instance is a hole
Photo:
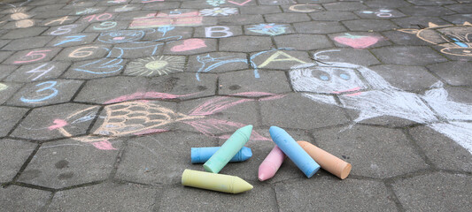
[[[453,102],[442,82],[431,85],[424,95],[392,87],[376,72],[359,64],[329,62],[323,53],[314,55],[315,64],[299,64],[290,71],[293,88],[314,102],[359,110],[354,120],[391,116],[429,126],[456,141],[472,153],[472,104]],[[361,76],[361,77],[359,77]],[[337,95],[337,102],[333,95]]]

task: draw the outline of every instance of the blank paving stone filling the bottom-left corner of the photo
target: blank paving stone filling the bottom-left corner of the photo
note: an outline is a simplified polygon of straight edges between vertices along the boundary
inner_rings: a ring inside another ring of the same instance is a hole
[[[50,192],[27,187],[0,187],[0,204],[7,211],[42,211],[50,195]]]

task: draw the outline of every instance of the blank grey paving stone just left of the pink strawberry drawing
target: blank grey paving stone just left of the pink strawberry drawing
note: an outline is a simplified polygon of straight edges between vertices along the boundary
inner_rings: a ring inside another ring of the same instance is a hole
[[[321,34],[289,34],[274,38],[278,48],[291,48],[297,50],[326,49],[332,47],[325,35]]]

